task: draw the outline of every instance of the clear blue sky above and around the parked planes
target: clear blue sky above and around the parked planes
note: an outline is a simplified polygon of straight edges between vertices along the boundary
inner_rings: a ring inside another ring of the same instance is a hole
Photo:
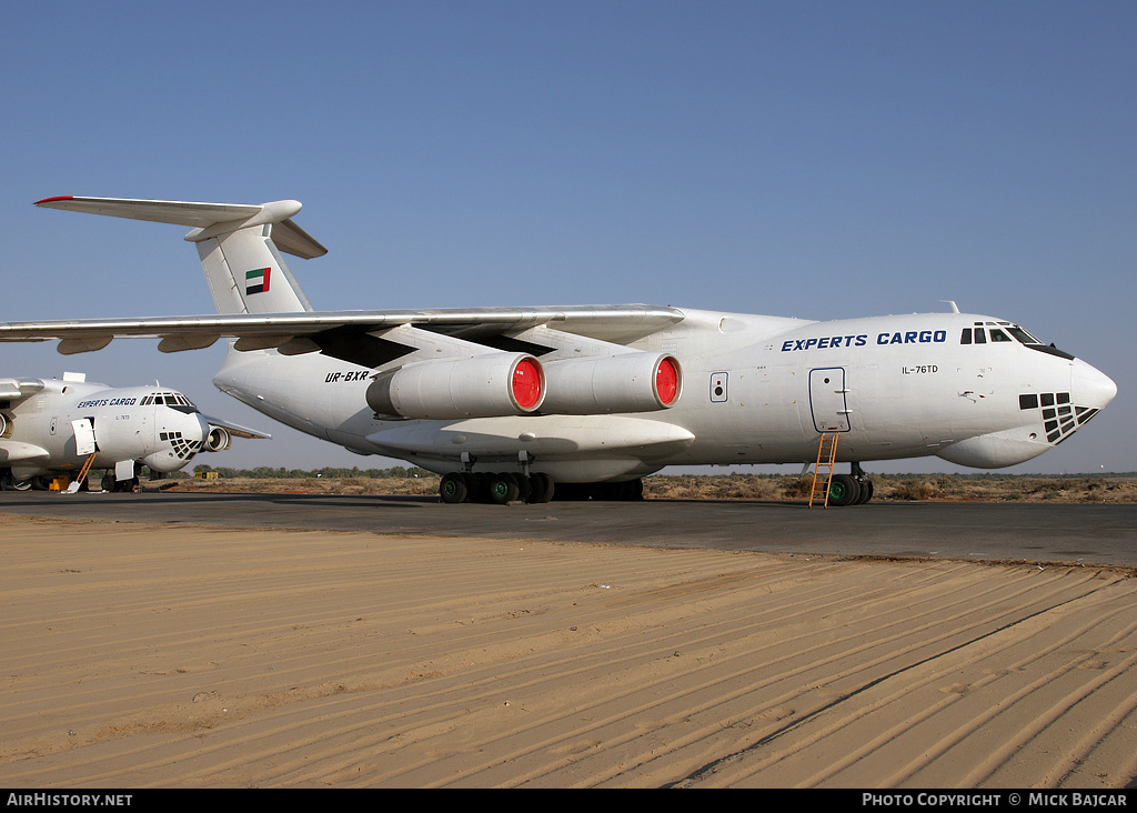
[[[321,309],[955,300],[1118,382],[1010,471],[1137,470],[1132,2],[45,0],[0,36],[2,321],[213,309],[186,230],[35,200],[294,198]],[[218,393],[219,347],[3,350],[273,432],[216,465],[388,464]]]

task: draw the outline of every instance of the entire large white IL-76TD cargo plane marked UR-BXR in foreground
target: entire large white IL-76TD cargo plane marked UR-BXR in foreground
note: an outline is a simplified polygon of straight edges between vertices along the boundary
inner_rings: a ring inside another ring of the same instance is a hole
[[[670,465],[805,463],[840,435],[829,505],[866,461],[1022,463],[1117,393],[1018,325],[958,313],[840,322],[648,305],[314,310],[281,251],[326,252],[297,201],[49,198],[41,207],[193,226],[218,316],[0,325],[0,340],[230,342],[214,378],[259,412],[359,454],[443,474],[445,501],[634,499]]]

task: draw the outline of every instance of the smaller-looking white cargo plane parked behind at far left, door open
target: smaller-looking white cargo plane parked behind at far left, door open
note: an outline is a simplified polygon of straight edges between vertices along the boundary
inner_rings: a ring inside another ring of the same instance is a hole
[[[267,438],[206,417],[181,392],[56,379],[0,379],[0,489],[47,490],[66,475],[77,491],[92,471],[106,491],[139,486],[139,471],[168,474],[199,451],[227,449],[232,437]]]

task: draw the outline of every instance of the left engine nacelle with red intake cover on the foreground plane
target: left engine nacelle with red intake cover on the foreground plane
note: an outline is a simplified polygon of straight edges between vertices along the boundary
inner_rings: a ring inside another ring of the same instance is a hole
[[[462,418],[525,415],[545,398],[545,371],[524,352],[447,357],[379,375],[367,405],[381,415]]]

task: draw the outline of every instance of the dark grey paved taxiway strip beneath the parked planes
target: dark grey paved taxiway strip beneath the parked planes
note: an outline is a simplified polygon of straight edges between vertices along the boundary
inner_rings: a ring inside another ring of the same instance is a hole
[[[1137,567],[1137,505],[647,500],[443,505],[302,493],[0,493],[0,515]]]

